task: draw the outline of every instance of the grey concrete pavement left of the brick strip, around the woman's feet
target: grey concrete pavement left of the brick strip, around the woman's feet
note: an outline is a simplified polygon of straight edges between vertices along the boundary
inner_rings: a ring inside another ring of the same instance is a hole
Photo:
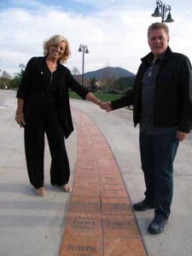
[[[0,255],[57,256],[61,247],[68,194],[49,183],[50,156],[45,144],[47,195],[34,194],[26,172],[23,130],[15,123],[15,91],[0,90]],[[67,140],[72,170],[77,160],[76,131]]]

